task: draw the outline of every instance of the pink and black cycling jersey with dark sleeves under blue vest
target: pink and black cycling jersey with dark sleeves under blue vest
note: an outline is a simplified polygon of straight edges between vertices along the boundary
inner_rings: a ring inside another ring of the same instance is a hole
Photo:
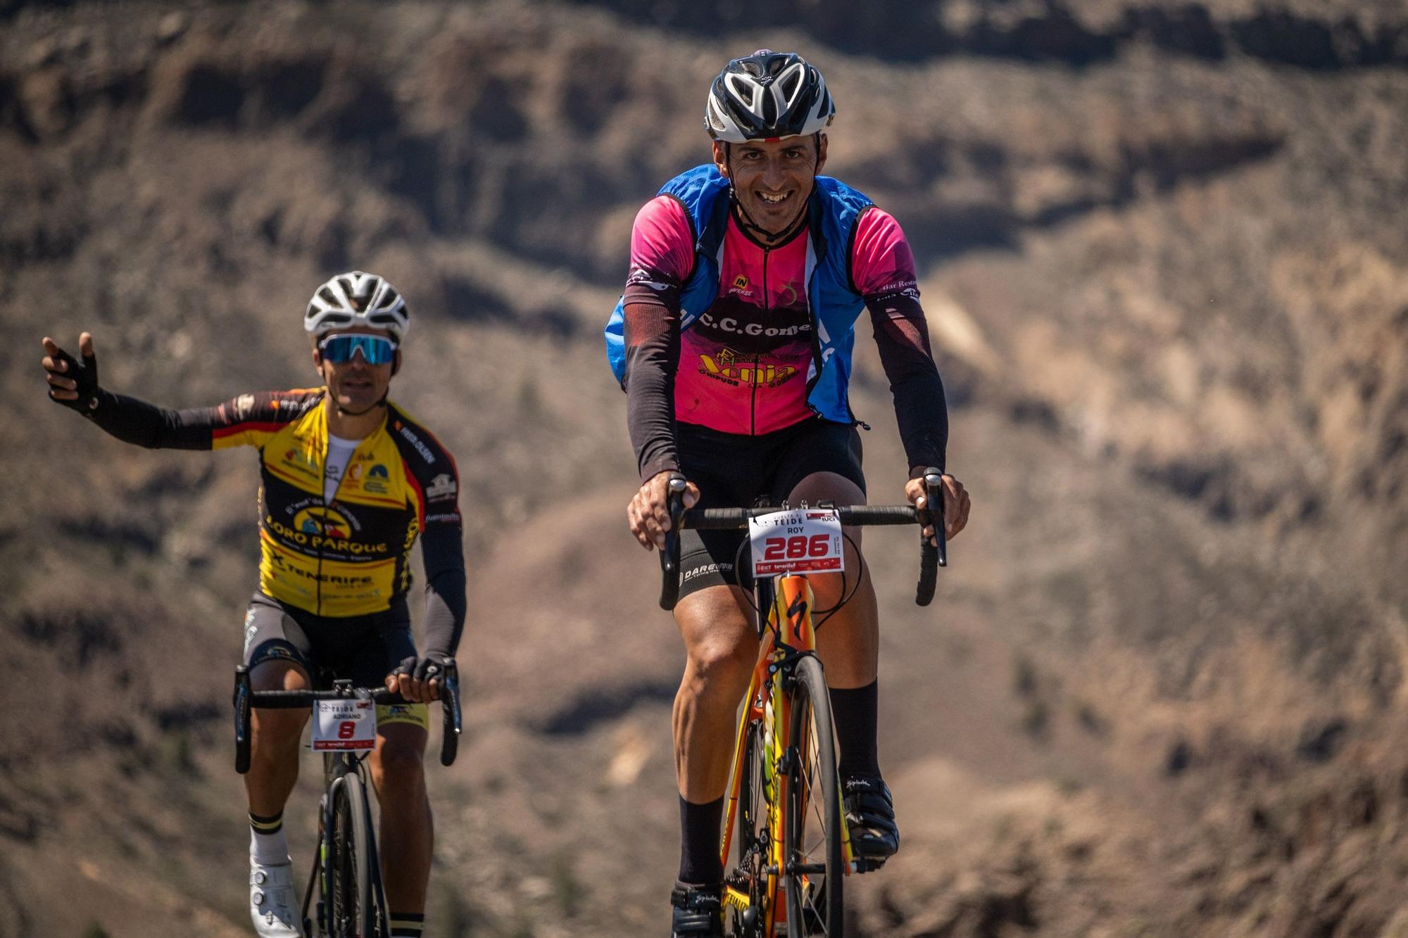
[[[670,196],[646,203],[631,235],[624,331],[642,477],[677,468],[672,465],[677,461],[669,421],[662,421],[652,401],[656,376],[641,372],[663,368],[673,373],[673,390],[666,393],[681,424],[762,435],[815,418],[807,403],[818,348],[807,296],[808,227],[781,244],[763,245],[731,215],[719,251],[718,294],[681,330],[680,290],[693,273],[694,241],[684,207]],[[853,287],[870,310],[895,393],[911,465],[942,465],[943,445],[934,430],[935,413],[945,411],[942,384],[929,355],[910,245],[888,213],[870,207],[856,220],[848,249]],[[649,393],[634,393],[632,382],[645,383]]]

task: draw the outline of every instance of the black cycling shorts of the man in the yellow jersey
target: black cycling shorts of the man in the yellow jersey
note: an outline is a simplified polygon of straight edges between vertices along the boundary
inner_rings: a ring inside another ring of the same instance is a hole
[[[356,687],[382,687],[397,665],[415,654],[411,613],[406,600],[384,613],[335,618],[314,615],[256,592],[245,613],[245,665],[291,661],[308,672],[315,687],[349,679]],[[425,704],[376,708],[377,724],[410,723],[429,728]]]

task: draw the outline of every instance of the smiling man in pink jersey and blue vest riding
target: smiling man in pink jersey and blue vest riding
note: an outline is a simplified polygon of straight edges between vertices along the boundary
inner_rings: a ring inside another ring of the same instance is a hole
[[[818,176],[834,113],[821,73],[800,56],[762,49],[731,61],[705,110],[712,163],[666,183],[636,215],[607,346],[641,472],[627,514],[648,549],[665,544],[674,477],[689,480],[691,507],[865,501],[859,421],[846,400],[862,308],[894,394],[905,497],[922,506],[921,477],[943,470],[948,411],[914,256],[891,215]],[[952,538],[970,503],[953,476],[943,483]],[[860,542],[857,530],[848,534]],[[749,573],[734,569],[741,537],[680,534],[674,617],[687,663],[673,720],[681,849],[672,938],[722,934],[718,835],[736,707],[758,656]],[[879,617],[859,554],[848,552],[846,569],[862,570],[860,584],[817,641],[852,844],[883,861],[900,835],[876,752]],[[812,579],[821,607],[836,603],[839,580]]]

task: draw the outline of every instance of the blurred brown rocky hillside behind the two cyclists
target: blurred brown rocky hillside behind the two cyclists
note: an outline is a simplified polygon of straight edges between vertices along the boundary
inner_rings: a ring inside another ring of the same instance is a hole
[[[353,266],[465,482],[429,934],[662,934],[681,652],[600,325],[763,45],[908,231],[974,500],[929,610],[866,538],[904,852],[850,934],[1408,934],[1401,0],[0,0],[0,935],[248,934],[255,458],[106,438],[39,338],[172,406],[301,386]]]

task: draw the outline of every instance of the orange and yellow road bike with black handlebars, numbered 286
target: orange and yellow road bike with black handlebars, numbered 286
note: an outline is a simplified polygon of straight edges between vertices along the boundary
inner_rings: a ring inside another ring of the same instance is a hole
[[[934,524],[938,544],[921,535],[915,603],[934,599],[938,568],[946,566],[943,494],[938,473],[925,476],[926,504],[835,507],[842,525]],[[752,517],[777,508],[686,511],[684,482],[670,490],[670,531],[660,555],[660,606],[679,596],[681,528],[746,528]],[[803,504],[801,508],[808,506]],[[748,549],[748,542],[742,546]],[[734,938],[828,935],[843,931],[845,877],[879,868],[852,851],[842,823],[831,693],[817,658],[817,628],[855,593],[842,589],[831,610],[817,613],[805,573],[756,577],[758,634],[762,642],[748,687],[734,748],[728,810],[719,852],[724,861],[724,930]],[[822,618],[817,623],[812,615]]]

